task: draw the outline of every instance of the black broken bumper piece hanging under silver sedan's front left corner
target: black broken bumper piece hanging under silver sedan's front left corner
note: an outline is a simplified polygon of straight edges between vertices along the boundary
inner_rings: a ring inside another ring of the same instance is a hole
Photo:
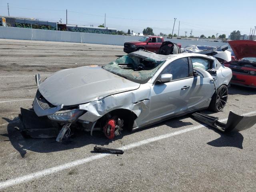
[[[58,126],[47,118],[38,117],[34,110],[20,108],[20,133],[24,138],[52,138],[58,136]]]

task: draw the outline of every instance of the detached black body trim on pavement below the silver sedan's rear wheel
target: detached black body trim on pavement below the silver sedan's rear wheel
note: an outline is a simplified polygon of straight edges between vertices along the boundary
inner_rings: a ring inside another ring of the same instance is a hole
[[[192,117],[221,132],[239,132],[246,130],[256,124],[256,116],[241,116],[230,111],[227,123],[219,122],[217,117],[206,115],[202,112],[192,114]]]

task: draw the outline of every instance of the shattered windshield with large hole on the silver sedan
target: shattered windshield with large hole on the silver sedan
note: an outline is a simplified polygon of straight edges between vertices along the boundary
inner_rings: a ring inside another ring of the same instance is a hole
[[[128,54],[102,68],[133,82],[144,84],[152,78],[164,61],[156,61],[137,54]]]

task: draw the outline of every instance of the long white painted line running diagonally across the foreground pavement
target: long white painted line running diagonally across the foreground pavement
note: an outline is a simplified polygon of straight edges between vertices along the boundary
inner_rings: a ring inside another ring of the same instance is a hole
[[[242,115],[251,115],[251,114],[255,114],[255,113],[256,113],[256,111],[253,111],[253,112],[249,112],[249,113],[242,114]],[[219,121],[224,122],[226,120],[227,120],[227,118],[219,120]],[[132,143],[132,144],[128,144],[128,145],[123,146],[119,149],[129,150],[129,149],[136,148],[136,147],[139,147],[139,146],[142,146],[142,145],[145,145],[145,144],[149,144],[149,143],[152,143],[152,142],[156,142],[156,141],[159,141],[159,140],[162,140],[162,139],[170,138],[170,137],[175,136],[175,135],[190,132],[190,131],[193,131],[193,130],[196,130],[196,129],[199,129],[199,128],[202,128],[202,127],[204,127],[204,125],[200,124],[198,126],[185,128],[185,129],[180,130],[180,131],[176,131],[176,132],[156,136],[156,137],[153,137],[153,138],[148,138],[148,139],[138,141],[138,142],[135,142],[135,143]],[[44,169],[42,171],[38,171],[38,172],[34,172],[34,173],[27,174],[27,175],[24,175],[24,176],[20,176],[20,177],[14,178],[14,179],[6,180],[4,182],[0,182],[0,189],[4,189],[4,188],[10,187],[10,186],[14,186],[14,185],[17,185],[17,184],[28,182],[30,180],[34,180],[34,179],[37,179],[37,178],[41,178],[43,176],[50,175],[50,174],[53,174],[53,173],[56,173],[56,172],[60,172],[62,170],[72,168],[72,167],[75,167],[75,166],[79,166],[79,165],[85,164],[87,162],[91,162],[93,160],[104,158],[106,156],[110,156],[110,154],[98,154],[98,155],[90,156],[90,157],[87,157],[87,158],[75,160],[75,161],[72,161],[72,162],[69,162],[69,163],[65,163],[65,164],[62,164],[62,165],[59,165],[59,166],[55,166],[55,167],[52,167],[52,168]]]

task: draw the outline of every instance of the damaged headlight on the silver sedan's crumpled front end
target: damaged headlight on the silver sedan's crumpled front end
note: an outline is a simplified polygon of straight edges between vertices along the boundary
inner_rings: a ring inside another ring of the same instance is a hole
[[[85,112],[85,110],[80,109],[64,110],[58,111],[52,115],[48,115],[47,117],[51,120],[56,121],[74,122],[78,117],[80,117]]]

